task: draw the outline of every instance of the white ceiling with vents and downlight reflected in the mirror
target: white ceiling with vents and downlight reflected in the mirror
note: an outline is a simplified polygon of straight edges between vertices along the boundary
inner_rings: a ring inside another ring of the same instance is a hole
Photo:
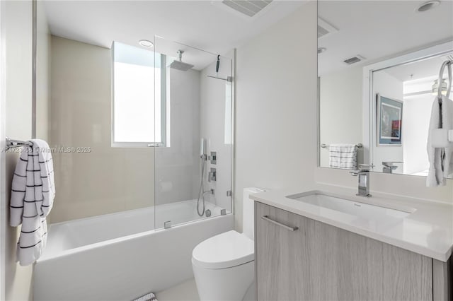
[[[430,45],[453,40],[453,1],[424,13],[422,1],[319,1],[319,16],[338,29],[319,39],[319,73],[348,68],[343,60],[360,54],[370,64]],[[439,66],[437,66],[439,68]]]

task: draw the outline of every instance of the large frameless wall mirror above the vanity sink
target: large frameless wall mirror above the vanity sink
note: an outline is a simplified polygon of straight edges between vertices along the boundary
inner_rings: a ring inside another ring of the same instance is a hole
[[[320,167],[427,175],[452,20],[453,1],[319,1]]]

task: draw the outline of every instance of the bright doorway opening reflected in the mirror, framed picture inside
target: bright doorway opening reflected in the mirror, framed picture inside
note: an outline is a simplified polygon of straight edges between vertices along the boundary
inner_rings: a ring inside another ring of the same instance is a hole
[[[373,72],[375,129],[370,159],[374,171],[428,175],[432,102],[436,101],[440,66],[451,53]]]

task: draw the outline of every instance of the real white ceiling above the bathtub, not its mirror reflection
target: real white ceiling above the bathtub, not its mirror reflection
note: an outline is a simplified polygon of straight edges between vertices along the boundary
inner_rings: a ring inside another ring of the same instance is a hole
[[[221,1],[45,1],[45,12],[53,35],[92,45],[110,48],[115,40],[138,46],[139,40],[159,35],[225,54],[304,3],[274,0],[253,18]],[[190,56],[186,53],[183,61],[198,69],[211,62]]]

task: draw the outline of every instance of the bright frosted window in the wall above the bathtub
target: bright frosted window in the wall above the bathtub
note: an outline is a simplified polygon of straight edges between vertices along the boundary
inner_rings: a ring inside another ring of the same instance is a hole
[[[113,53],[113,146],[164,145],[161,54],[118,42]]]

